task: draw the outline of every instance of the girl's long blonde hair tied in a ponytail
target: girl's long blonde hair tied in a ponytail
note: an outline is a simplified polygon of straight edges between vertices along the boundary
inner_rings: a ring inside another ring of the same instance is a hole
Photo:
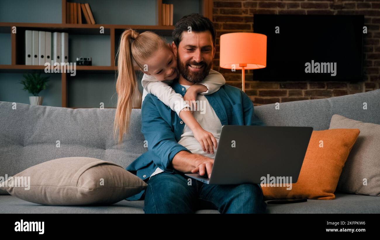
[[[119,129],[118,145],[123,141],[124,133],[128,133],[132,107],[141,107],[141,93],[138,90],[135,69],[144,69],[144,60],[151,57],[162,46],[165,40],[154,32],[141,34],[132,29],[125,30],[117,50],[117,106],[114,121],[114,139]]]

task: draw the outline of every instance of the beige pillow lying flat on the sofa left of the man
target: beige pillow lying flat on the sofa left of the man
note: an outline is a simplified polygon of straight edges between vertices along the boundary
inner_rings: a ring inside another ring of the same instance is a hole
[[[133,196],[147,184],[115,163],[88,157],[53,159],[29,167],[0,188],[43,205],[109,205]]]

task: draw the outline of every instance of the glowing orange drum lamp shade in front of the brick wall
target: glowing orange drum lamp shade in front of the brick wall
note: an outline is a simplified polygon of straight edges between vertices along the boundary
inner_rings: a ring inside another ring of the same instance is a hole
[[[220,35],[220,67],[227,69],[266,67],[266,35],[226,33]]]

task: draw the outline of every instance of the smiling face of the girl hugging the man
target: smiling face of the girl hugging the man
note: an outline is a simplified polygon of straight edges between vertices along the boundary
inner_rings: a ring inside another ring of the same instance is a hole
[[[171,47],[166,45],[147,59],[145,64],[147,69],[141,70],[145,74],[153,76],[158,81],[173,80],[178,77],[177,58],[171,51]]]

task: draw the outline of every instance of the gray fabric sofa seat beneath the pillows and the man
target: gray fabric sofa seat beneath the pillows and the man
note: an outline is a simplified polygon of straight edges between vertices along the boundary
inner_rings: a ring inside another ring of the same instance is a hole
[[[268,202],[267,202],[268,203]],[[0,196],[1,213],[144,213],[144,201],[122,200],[109,206],[46,206],[15,196]],[[219,213],[197,210],[195,213]],[[380,197],[336,193],[331,201],[310,200],[292,204],[268,204],[266,213],[380,213]]]

